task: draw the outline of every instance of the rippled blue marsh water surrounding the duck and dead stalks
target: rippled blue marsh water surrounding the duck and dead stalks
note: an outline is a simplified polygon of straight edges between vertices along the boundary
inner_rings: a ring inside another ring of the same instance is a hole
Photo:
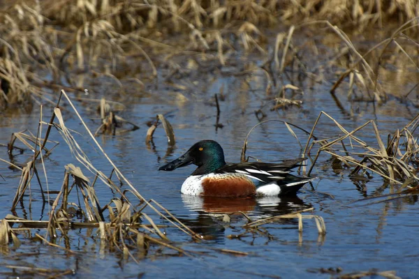
[[[328,47],[321,50],[328,52]],[[182,63],[179,57],[179,63]],[[263,63],[258,55],[249,56],[249,61],[256,65]],[[315,67],[315,59],[312,61]],[[397,98],[390,98],[386,103],[351,102],[344,90],[337,92],[341,106],[330,96],[332,72],[330,68],[323,82],[313,82],[309,78],[299,79],[293,73],[286,79],[298,86],[304,94],[300,106],[291,106],[286,110],[271,111],[272,101],[266,98],[264,74],[253,71],[249,75],[238,74],[240,66],[228,66],[221,70],[207,70],[196,73],[191,84],[183,84],[182,76],[173,82],[179,86],[164,82],[168,74],[159,71],[160,79],[140,88],[131,84],[124,93],[115,93],[117,86],[112,80],[90,82],[86,77],[84,87],[89,93],[78,93],[78,98],[115,100],[125,106],[119,115],[138,126],[139,130],[124,135],[101,135],[97,137],[105,152],[133,183],[146,199],[155,199],[163,204],[173,215],[182,220],[191,229],[205,236],[204,241],[192,241],[178,229],[165,229],[168,238],[177,246],[189,251],[202,252],[193,257],[178,255],[169,248],[161,248],[150,255],[134,253],[139,264],[120,252],[101,249],[100,243],[92,235],[96,229],[73,229],[68,238],[58,239],[57,244],[75,251],[74,255],[32,240],[31,236],[22,235],[22,245],[10,248],[0,255],[0,276],[2,278],[25,278],[25,273],[10,266],[34,266],[37,268],[74,270],[73,278],[330,278],[329,273],[320,269],[340,268],[342,273],[357,271],[397,271],[402,278],[418,278],[419,266],[419,207],[417,197],[395,199],[365,205],[358,199],[390,193],[391,187],[378,176],[372,174],[369,181],[353,181],[348,176],[351,169],[332,167],[331,156],[321,154],[314,167],[313,176],[318,179],[300,190],[297,197],[260,198],[260,199],[204,199],[203,197],[182,196],[182,182],[193,172],[193,166],[176,169],[174,172],[159,172],[159,166],[182,155],[199,140],[216,140],[223,146],[226,160],[230,163],[240,161],[240,153],[249,130],[260,121],[255,112],[262,110],[266,115],[263,121],[279,119],[310,130],[318,114],[325,111],[333,116],[346,130],[353,130],[361,124],[374,120],[385,139],[388,133],[394,133],[409,123],[418,113],[412,103]],[[235,74],[236,73],[236,74]],[[386,75],[399,76],[399,73],[386,70]],[[193,74],[191,74],[193,75]],[[334,76],[335,78],[337,75]],[[329,79],[329,80],[328,80]],[[410,80],[409,80],[410,79]],[[90,83],[89,83],[90,82]],[[395,78],[386,80],[388,90],[409,91],[417,80],[416,73],[404,73],[404,80]],[[183,89],[186,88],[186,89]],[[216,107],[214,93],[222,92],[220,98],[219,123],[216,128]],[[57,91],[53,93],[58,94]],[[74,93],[70,95],[75,98]],[[413,93],[414,95],[414,93]],[[75,101],[90,130],[100,124],[96,114],[97,102]],[[89,139],[80,121],[63,105],[66,125],[80,133],[78,142],[91,162],[105,174],[110,174],[112,167],[103,158]],[[48,121],[52,108],[43,107],[43,120]],[[167,137],[160,126],[154,133],[154,142],[145,144],[147,123],[154,121],[156,114],[164,114],[175,131],[176,144],[168,146]],[[3,112],[0,117],[0,142],[6,144],[10,135],[20,130],[29,129],[36,133],[40,108],[34,106],[29,111]],[[78,165],[68,146],[57,130],[52,130],[50,140],[60,142],[52,154],[45,158],[47,186],[50,191],[61,188],[64,178],[64,166]],[[265,162],[276,162],[286,158],[301,156],[307,135],[295,130],[300,143],[289,133],[284,124],[267,122],[258,126],[249,136],[247,156],[253,156]],[[322,119],[316,135],[321,138],[340,135],[341,130],[329,119]],[[360,135],[362,140],[376,146],[374,130],[366,128]],[[22,146],[23,147],[23,146]],[[2,147],[1,158],[7,160],[6,147]],[[25,163],[33,155],[25,149],[22,154],[15,152],[13,162]],[[311,154],[311,156],[314,156]],[[251,159],[253,160],[253,159]],[[310,161],[309,161],[310,164]],[[13,197],[20,181],[20,172],[1,163],[0,174],[0,217],[10,212]],[[91,179],[93,174],[85,173]],[[44,186],[45,187],[45,186]],[[124,186],[122,186],[124,188]],[[96,194],[103,204],[109,202],[114,193],[104,185],[95,186]],[[55,195],[51,194],[51,199]],[[73,202],[77,202],[73,200]],[[234,237],[243,232],[242,225],[247,223],[240,214],[231,216],[229,223],[223,222],[220,213],[242,211],[253,220],[267,216],[277,216],[301,209],[314,208],[307,214],[324,218],[327,234],[318,234],[316,223],[311,219],[303,220],[303,232],[298,232],[297,219],[284,219],[263,225],[263,232]],[[31,220],[47,220],[49,205],[43,206],[37,183],[31,183],[31,193],[27,194],[17,207],[17,216]],[[149,215],[161,225],[168,225],[153,211]],[[33,229],[34,233],[45,234],[45,229]],[[237,250],[247,255],[223,253],[220,249]],[[7,267],[9,266],[9,267]],[[26,275],[27,278],[42,277],[40,274]]]

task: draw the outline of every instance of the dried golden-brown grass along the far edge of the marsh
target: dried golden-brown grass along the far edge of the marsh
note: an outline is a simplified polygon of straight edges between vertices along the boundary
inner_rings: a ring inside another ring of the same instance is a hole
[[[161,49],[173,53],[194,50],[203,52],[205,56],[210,56],[214,49],[221,65],[226,65],[230,59],[226,51],[237,51],[237,43],[245,52],[256,50],[266,55],[267,37],[262,27],[272,26],[278,20],[297,20],[299,17],[307,23],[292,26],[287,35],[277,35],[272,59],[279,73],[284,73],[288,65],[287,58],[291,56],[293,61],[304,68],[297,55],[299,47],[293,46],[292,37],[295,32],[307,27],[307,24],[328,24],[354,55],[354,62],[351,62],[350,68],[340,80],[350,76],[353,84],[368,91],[370,100],[385,100],[385,94],[377,82],[376,68],[370,67],[364,59],[370,52],[362,56],[341,28],[347,22],[359,30],[375,23],[382,27],[383,22],[393,18],[399,20],[400,24],[406,22],[387,43],[397,43],[400,52],[409,56],[413,62],[414,54],[405,50],[396,39],[417,30],[418,3],[413,0],[159,0],[152,3],[126,0],[27,0],[18,3],[10,1],[2,12],[0,80],[3,90],[0,92],[0,105],[52,103],[57,96],[52,95],[48,89],[60,85],[63,77],[72,87],[77,84],[79,89],[82,88],[82,82],[74,76],[80,71],[96,77],[110,77],[124,91],[125,81],[135,80],[140,84],[142,81],[138,77],[117,77],[118,67],[129,68],[131,56],[140,54],[148,64],[143,74],[147,73],[147,78],[154,79],[157,77],[156,61],[160,60],[154,54]],[[323,20],[313,22],[319,18]],[[339,23],[341,27],[335,26]],[[223,29],[210,30],[210,27],[221,26]],[[156,36],[155,29],[159,29],[157,33],[163,35],[161,38],[166,38],[172,31],[183,31],[189,34],[191,40],[180,46],[168,45]],[[307,69],[304,72],[307,73]],[[44,80],[43,73],[49,73],[50,78]],[[269,74],[272,82],[272,77],[277,75]],[[351,82],[351,88],[353,84]],[[370,88],[371,84],[374,85],[373,89]],[[290,104],[298,105],[284,100],[279,100],[279,103],[277,101],[280,107]]]

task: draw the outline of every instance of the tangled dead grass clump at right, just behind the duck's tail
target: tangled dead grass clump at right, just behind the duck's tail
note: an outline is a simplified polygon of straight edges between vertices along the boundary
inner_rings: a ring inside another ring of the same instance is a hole
[[[351,176],[369,179],[369,175],[375,173],[382,176],[390,185],[397,186],[398,191],[418,185],[416,169],[419,164],[419,144],[413,133],[419,126],[419,115],[401,130],[388,135],[387,142],[383,142],[383,136],[372,120],[348,131],[325,112],[319,114],[311,135],[316,132],[322,116],[332,120],[343,135],[314,140],[311,144],[309,144],[310,139],[307,141],[304,154],[311,153],[314,146],[318,146],[308,174],[311,173],[318,156],[327,153],[335,159],[335,163],[339,162],[343,167],[352,169]],[[362,134],[367,133],[365,132],[367,128],[373,130],[376,138],[375,147],[362,140]]]

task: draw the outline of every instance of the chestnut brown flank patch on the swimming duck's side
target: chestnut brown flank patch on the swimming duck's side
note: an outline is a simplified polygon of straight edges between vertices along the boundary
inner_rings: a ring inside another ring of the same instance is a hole
[[[256,195],[256,186],[244,176],[208,177],[202,182],[203,196],[210,197],[247,197]]]

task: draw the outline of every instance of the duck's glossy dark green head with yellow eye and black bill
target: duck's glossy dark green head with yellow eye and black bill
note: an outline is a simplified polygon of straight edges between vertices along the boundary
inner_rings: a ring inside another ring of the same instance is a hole
[[[214,172],[219,167],[226,165],[223,149],[214,140],[201,140],[193,144],[184,155],[163,165],[159,170],[172,171],[178,167],[185,167],[191,164],[198,166],[192,175]]]

